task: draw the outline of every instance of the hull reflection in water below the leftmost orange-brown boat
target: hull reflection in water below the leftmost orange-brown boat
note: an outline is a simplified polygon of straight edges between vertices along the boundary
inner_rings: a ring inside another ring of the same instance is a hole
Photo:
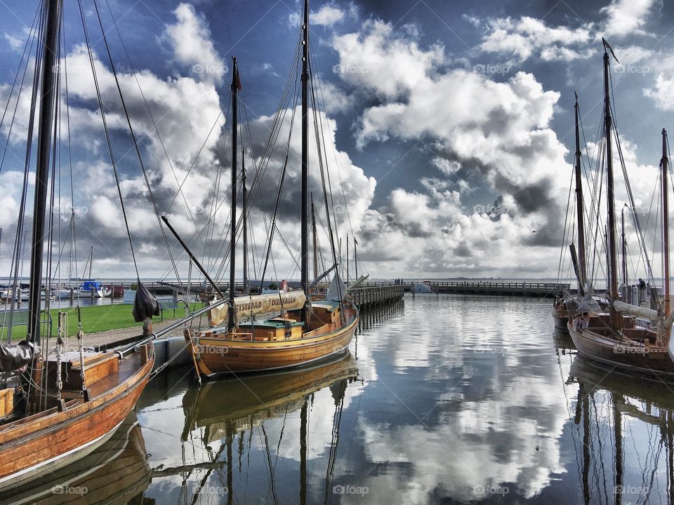
[[[142,504],[150,485],[145,441],[135,414],[106,443],[58,471],[0,493],[2,504]]]

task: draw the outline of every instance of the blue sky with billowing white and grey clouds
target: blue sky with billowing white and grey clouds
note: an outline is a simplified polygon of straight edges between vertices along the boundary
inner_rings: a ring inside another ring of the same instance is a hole
[[[2,148],[7,145],[0,168],[0,275],[11,268],[29,115],[29,86],[18,105],[10,91],[38,4],[0,3],[0,103],[10,106],[0,126]],[[62,114],[55,185],[61,212],[53,236],[54,249],[63,250],[58,274],[67,271],[72,206],[78,274],[93,245],[94,276],[132,277],[82,23],[77,4],[66,4],[67,60],[61,68],[69,86],[70,150]],[[288,0],[98,5],[157,210],[209,271],[223,276],[230,172],[229,154],[221,149],[229,142],[228,125],[220,109],[230,93],[231,58],[236,56],[241,74],[251,167],[252,156],[263,157],[274,123],[302,6]],[[83,6],[139,275],[173,276],[166,242],[183,275],[182,250],[162,236],[145,189],[93,1],[83,0]],[[670,128],[674,109],[673,15],[672,4],[652,0],[312,2],[312,68],[324,102],[317,119],[343,250],[349,235],[353,254],[355,236],[361,271],[375,278],[557,276],[575,150],[574,90],[592,154],[602,121],[605,37],[620,62],[612,61],[614,107],[635,205],[651,206],[660,132]],[[29,65],[26,83],[31,76]],[[283,107],[290,117],[292,106]],[[283,241],[275,238],[268,274],[275,278],[299,277],[290,252],[296,256],[299,241],[300,137],[298,128],[290,133],[284,124],[279,138],[288,137],[278,223]],[[315,147],[310,149],[310,187],[320,194]],[[257,273],[267,236],[263,208],[272,207],[283,160],[277,147],[260,185],[262,197],[252,203]],[[621,208],[624,184],[616,191]],[[214,206],[216,226],[199,235]],[[32,206],[27,209],[30,220]],[[656,233],[653,220],[649,225]],[[320,235],[327,255],[324,229]],[[639,271],[636,241],[631,249]]]

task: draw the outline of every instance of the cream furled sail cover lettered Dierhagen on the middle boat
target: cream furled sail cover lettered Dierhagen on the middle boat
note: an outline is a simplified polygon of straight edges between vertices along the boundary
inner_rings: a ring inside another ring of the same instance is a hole
[[[301,309],[307,297],[303,291],[270,293],[267,295],[243,296],[234,298],[234,314],[237,321],[246,321],[253,316],[280,312],[282,310]],[[211,325],[218,326],[227,322],[227,305],[211,309]]]

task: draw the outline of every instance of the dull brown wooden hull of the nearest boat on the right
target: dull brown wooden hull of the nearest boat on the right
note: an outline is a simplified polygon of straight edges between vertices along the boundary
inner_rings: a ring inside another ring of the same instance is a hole
[[[674,381],[674,361],[666,346],[634,346],[604,337],[592,330],[576,331],[572,322],[567,329],[581,356],[594,361],[620,367],[653,380]]]

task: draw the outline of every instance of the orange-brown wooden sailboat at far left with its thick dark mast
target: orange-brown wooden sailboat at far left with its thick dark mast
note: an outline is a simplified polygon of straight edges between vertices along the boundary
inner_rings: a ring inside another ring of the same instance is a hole
[[[62,1],[44,0],[39,135],[33,212],[27,342],[0,346],[0,372],[15,372],[0,390],[0,489],[72,463],[108,440],[136,405],[154,365],[152,339],[114,352],[40,354],[40,291],[46,236],[46,196],[56,132]],[[37,91],[37,90],[36,90]],[[37,93],[36,93],[37,95]],[[31,133],[29,133],[29,136]],[[61,318],[60,318],[61,319]],[[60,321],[60,323],[65,321]],[[60,327],[62,327],[60,325]],[[60,341],[60,342],[59,342]],[[54,389],[47,391],[47,385]]]

